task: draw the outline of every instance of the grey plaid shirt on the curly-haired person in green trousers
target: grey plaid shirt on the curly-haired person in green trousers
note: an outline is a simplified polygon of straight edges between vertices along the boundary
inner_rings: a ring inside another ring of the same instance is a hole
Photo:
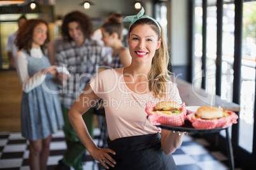
[[[74,41],[61,44],[57,48],[55,65],[66,67],[71,74],[66,84],[59,86],[62,106],[71,108],[99,67],[107,67],[109,63],[111,56],[99,41],[85,39],[81,46]]]

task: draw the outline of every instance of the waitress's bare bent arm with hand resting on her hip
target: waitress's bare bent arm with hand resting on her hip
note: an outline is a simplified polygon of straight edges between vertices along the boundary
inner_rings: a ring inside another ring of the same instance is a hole
[[[103,162],[103,158],[107,164],[114,167],[116,162],[111,158],[110,155],[108,155],[108,153],[115,155],[115,152],[110,148],[101,149],[95,145],[82,118],[82,115],[87,112],[87,110],[89,110],[89,108],[99,99],[100,98],[94,93],[92,88],[90,88],[89,84],[85,91],[83,91],[82,95],[80,95],[76,99],[75,103],[73,103],[71,109],[69,110],[68,117],[70,123],[75,129],[76,134],[82,141],[83,145],[85,145],[90,155],[92,155],[94,159],[101,162],[101,164],[108,169],[108,166],[106,166],[106,164]]]

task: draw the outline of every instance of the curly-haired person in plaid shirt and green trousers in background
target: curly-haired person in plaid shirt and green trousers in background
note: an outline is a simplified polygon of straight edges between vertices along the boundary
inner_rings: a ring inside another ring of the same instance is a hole
[[[61,34],[64,42],[57,49],[55,64],[66,67],[71,75],[67,76],[61,72],[57,74],[59,89],[62,91],[60,101],[65,122],[63,131],[68,149],[55,169],[70,169],[72,166],[76,170],[82,170],[85,147],[69,122],[68,112],[76,98],[89,84],[90,78],[96,75],[99,67],[111,62],[111,56],[106,53],[103,44],[91,39],[92,20],[80,11],[72,11],[64,16]],[[83,121],[86,122],[89,134],[93,138],[93,108],[83,116]]]

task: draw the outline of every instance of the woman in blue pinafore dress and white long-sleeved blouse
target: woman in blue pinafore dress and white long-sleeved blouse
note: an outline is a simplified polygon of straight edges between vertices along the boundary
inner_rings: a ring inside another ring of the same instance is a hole
[[[46,169],[52,133],[64,125],[57,88],[56,73],[44,55],[48,39],[45,20],[27,20],[18,32],[15,56],[18,77],[22,85],[21,129],[29,140],[29,166]]]

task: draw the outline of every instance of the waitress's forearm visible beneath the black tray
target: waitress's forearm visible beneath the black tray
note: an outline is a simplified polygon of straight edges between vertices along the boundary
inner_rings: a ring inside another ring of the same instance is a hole
[[[161,146],[166,155],[173,154],[176,148],[182,143],[183,134],[174,133],[166,129],[162,129]]]

